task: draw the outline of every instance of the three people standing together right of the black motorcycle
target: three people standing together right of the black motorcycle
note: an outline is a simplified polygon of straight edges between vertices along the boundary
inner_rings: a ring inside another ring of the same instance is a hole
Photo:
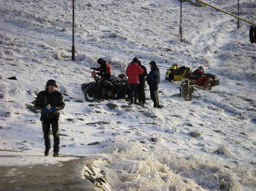
[[[158,100],[158,88],[160,84],[160,71],[155,61],[149,63],[151,71],[148,73],[145,66],[137,57],[133,58],[132,63],[126,68],[126,75],[128,77],[128,86],[130,89],[130,104],[146,103],[145,85],[146,81],[149,85],[151,99],[154,102],[154,107],[160,108]]]

